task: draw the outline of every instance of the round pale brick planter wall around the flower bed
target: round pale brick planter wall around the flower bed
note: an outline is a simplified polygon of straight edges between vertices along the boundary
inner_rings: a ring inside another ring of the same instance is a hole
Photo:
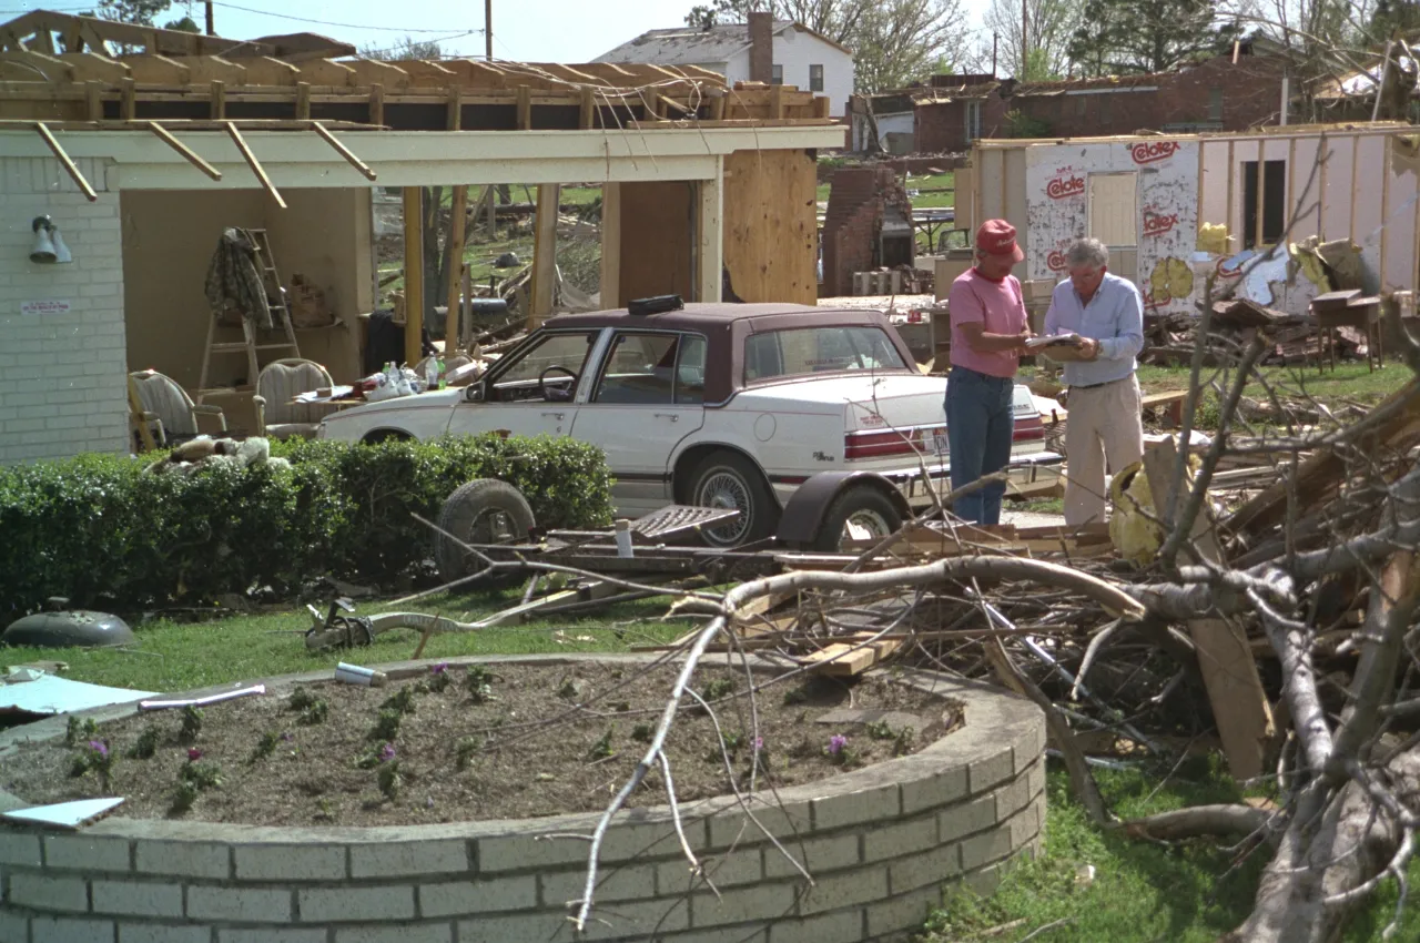
[[[389,670],[402,669],[425,670]],[[268,685],[278,696],[327,677]],[[606,835],[596,892],[605,923],[586,939],[858,943],[919,929],[943,885],[994,889],[1010,858],[1039,848],[1044,717],[1018,697],[940,675],[907,672],[903,682],[963,702],[966,726],[914,756],[781,790],[782,810],[751,802],[814,885],[743,807],[716,798],[687,804],[683,818],[720,896],[690,890],[666,808],[632,810]],[[60,719],[7,731],[0,763],[20,740],[62,733]],[[0,827],[0,942],[571,940],[565,902],[582,896],[586,844],[565,836],[589,834],[596,818],[408,828],[108,818],[78,834]],[[547,838],[554,834],[564,838]]]

